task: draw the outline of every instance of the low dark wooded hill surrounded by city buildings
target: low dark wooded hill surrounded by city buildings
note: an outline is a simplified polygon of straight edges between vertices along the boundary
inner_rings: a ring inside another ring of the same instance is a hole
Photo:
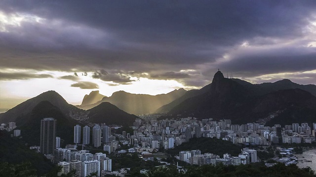
[[[201,150],[201,153],[213,153],[223,157],[223,154],[229,153],[232,156],[238,156],[241,153],[241,147],[233,144],[230,141],[224,141],[217,138],[192,138],[189,142],[182,143],[173,149],[168,149],[167,152],[172,156],[179,154],[184,150]]]

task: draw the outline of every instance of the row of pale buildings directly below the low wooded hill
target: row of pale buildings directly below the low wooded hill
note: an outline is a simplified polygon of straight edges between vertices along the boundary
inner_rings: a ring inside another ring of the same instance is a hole
[[[230,154],[224,154],[223,158],[212,153],[201,154],[200,150],[181,151],[178,160],[190,163],[191,165],[207,165],[214,166],[222,163],[224,165],[240,165],[257,162],[257,151],[254,149],[244,148],[238,157],[232,157]]]

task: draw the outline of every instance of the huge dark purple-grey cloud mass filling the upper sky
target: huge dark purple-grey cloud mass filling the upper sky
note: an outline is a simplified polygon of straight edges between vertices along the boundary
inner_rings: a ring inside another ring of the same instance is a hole
[[[218,67],[240,77],[313,70],[315,53],[296,44],[288,47],[295,51],[291,55],[259,48],[221,60],[245,41],[261,47],[302,40],[316,20],[315,9],[313,0],[3,0],[0,11],[6,16],[42,20],[2,24],[8,32],[0,32],[0,68],[98,69],[94,78],[120,84],[133,81],[129,71],[194,84],[192,75],[170,71],[197,69],[203,73],[193,77],[203,80],[197,85],[211,80]],[[109,73],[102,74],[103,68]]]

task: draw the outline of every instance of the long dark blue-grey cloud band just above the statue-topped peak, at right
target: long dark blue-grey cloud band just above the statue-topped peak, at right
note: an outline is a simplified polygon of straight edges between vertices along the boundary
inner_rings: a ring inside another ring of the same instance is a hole
[[[219,65],[237,77],[262,74],[304,72],[316,69],[316,48],[280,48],[249,51]]]

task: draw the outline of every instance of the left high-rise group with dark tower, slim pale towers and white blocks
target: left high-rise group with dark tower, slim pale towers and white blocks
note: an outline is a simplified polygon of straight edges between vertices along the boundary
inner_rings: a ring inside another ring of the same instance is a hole
[[[86,177],[91,173],[97,173],[98,177],[105,172],[112,171],[112,159],[105,153],[89,153],[88,150],[77,150],[77,144],[81,142],[81,126],[74,127],[74,143],[60,148],[60,137],[56,137],[56,119],[43,118],[40,121],[40,153],[62,167],[59,175],[76,170],[76,176]],[[108,136],[109,127],[104,126],[104,135]],[[93,127],[93,146],[101,146],[101,129]],[[82,145],[90,144],[90,127],[83,127]],[[33,147],[34,148],[34,147]]]

